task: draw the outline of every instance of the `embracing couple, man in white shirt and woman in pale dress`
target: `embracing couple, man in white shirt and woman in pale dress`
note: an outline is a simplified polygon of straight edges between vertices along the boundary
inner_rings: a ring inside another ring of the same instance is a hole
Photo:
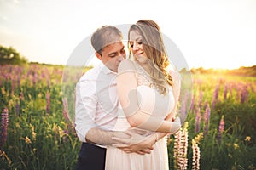
[[[102,26],[91,45],[102,62],[76,86],[78,169],[168,169],[166,135],[181,127],[180,80],[170,69],[160,27],[138,20],[128,32]]]

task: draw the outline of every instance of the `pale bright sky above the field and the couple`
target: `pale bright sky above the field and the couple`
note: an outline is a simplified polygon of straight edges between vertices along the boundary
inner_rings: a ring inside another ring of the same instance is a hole
[[[99,26],[141,19],[158,23],[190,68],[256,65],[254,0],[0,0],[0,45],[29,61],[66,65]]]

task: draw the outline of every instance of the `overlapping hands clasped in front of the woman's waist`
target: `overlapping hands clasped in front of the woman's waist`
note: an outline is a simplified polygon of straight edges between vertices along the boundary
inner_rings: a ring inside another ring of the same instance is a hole
[[[113,146],[118,147],[120,150],[123,150],[126,153],[135,152],[140,155],[145,155],[150,154],[151,150],[153,150],[153,145],[156,142],[156,138],[157,136],[154,135],[154,133],[149,136],[143,136],[134,130],[129,129],[123,133],[114,133],[112,139],[121,143],[113,144]]]

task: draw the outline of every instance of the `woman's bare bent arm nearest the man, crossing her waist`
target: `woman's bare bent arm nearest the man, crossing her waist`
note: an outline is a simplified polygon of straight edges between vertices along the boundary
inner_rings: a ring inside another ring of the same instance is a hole
[[[150,131],[174,133],[180,128],[180,123],[162,120],[140,110],[137,101],[136,69],[130,60],[124,60],[119,65],[118,94],[119,101],[131,127],[139,127]]]

